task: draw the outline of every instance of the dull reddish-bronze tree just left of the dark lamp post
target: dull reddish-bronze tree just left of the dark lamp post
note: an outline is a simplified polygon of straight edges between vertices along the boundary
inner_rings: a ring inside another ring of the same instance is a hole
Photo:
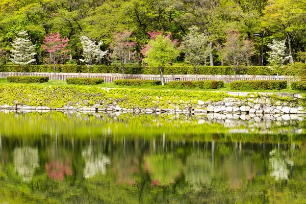
[[[232,66],[236,81],[236,72],[242,62],[247,62],[253,55],[253,43],[251,40],[243,38],[239,33],[231,30],[227,32],[226,42],[220,49],[222,58]]]

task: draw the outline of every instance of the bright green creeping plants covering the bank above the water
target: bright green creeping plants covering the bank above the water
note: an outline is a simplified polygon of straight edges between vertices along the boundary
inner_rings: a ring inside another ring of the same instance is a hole
[[[228,97],[227,93],[203,91],[167,91],[146,89],[103,89],[84,86],[42,86],[42,85],[0,85],[0,105],[46,106],[62,108],[64,106],[107,107],[116,103],[121,108],[174,108],[184,109],[187,105],[197,104],[198,100],[218,101]]]

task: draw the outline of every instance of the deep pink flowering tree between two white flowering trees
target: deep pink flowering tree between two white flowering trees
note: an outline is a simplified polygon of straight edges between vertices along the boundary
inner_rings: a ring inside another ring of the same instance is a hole
[[[68,42],[69,39],[61,38],[60,33],[50,33],[45,36],[42,49],[49,54],[50,64],[54,65],[54,74],[56,72],[56,64],[62,64],[68,57]]]

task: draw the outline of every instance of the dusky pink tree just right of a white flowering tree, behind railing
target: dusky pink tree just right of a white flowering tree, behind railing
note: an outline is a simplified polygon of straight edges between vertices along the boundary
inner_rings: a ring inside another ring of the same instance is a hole
[[[111,59],[113,59],[113,63],[116,64],[114,60],[120,61],[120,69],[122,70],[122,74],[124,74],[125,64],[128,61],[134,61],[137,59],[136,50],[133,51],[133,48],[136,45],[136,42],[130,40],[132,32],[124,31],[123,33],[115,33],[114,34],[114,43],[110,44],[110,48],[113,50],[111,54]]]

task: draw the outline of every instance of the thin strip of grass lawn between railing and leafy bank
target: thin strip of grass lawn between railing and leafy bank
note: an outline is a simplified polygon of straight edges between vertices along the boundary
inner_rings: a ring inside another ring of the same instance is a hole
[[[0,84],[11,84],[7,81],[6,78],[0,78]],[[14,84],[14,83],[12,83]],[[20,84],[20,83],[18,83]],[[27,84],[24,84],[27,85]],[[306,93],[306,91],[298,91],[292,90],[290,85],[288,85],[287,89],[283,90],[231,90],[230,84],[224,84],[224,88],[222,89],[199,89],[199,88],[170,88],[169,86],[118,86],[114,83],[103,83],[99,85],[69,85],[66,81],[61,80],[50,80],[47,83],[41,83],[36,85],[47,85],[47,86],[85,86],[85,87],[104,87],[104,88],[124,88],[124,89],[152,89],[152,90],[185,90],[185,91],[224,91],[224,92],[273,92],[273,93]]]

